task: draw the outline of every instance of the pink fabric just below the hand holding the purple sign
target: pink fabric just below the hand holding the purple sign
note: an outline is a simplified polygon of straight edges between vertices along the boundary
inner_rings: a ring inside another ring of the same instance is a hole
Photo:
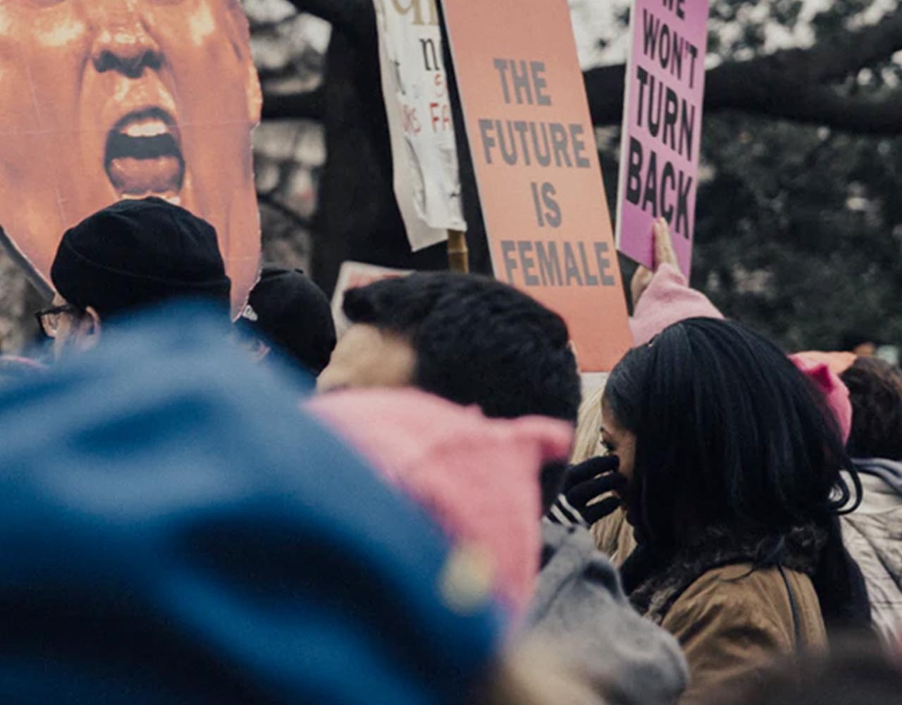
[[[690,289],[673,264],[661,264],[630,319],[633,345],[645,345],[667,326],[691,318],[723,319],[702,292]]]

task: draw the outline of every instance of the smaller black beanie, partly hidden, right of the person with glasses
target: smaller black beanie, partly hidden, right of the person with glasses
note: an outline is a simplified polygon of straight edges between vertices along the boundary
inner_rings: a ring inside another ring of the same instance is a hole
[[[299,269],[264,265],[242,322],[314,375],[326,368],[336,347],[329,300]]]

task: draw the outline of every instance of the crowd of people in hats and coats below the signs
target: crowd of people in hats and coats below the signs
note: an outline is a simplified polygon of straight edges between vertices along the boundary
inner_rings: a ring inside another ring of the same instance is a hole
[[[5,703],[882,705],[902,691],[902,372],[688,287],[585,388],[527,294],[326,296],[161,199],[66,232],[0,360]],[[599,321],[599,335],[604,334]]]

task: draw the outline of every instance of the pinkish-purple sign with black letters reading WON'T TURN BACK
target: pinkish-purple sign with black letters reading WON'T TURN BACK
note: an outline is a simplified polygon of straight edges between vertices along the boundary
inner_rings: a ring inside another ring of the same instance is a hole
[[[623,100],[617,246],[649,268],[651,226],[670,223],[688,276],[702,144],[709,0],[635,0]]]

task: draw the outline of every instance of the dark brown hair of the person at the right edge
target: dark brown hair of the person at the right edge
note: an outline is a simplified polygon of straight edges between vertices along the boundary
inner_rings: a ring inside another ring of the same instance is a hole
[[[902,371],[878,357],[859,357],[841,377],[852,406],[851,457],[902,460]]]

